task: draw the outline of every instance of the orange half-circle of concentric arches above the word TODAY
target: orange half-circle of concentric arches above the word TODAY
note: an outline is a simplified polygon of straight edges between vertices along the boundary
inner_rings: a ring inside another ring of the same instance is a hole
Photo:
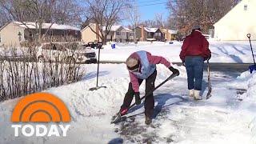
[[[15,106],[11,122],[70,122],[70,113],[52,94],[30,94]]]

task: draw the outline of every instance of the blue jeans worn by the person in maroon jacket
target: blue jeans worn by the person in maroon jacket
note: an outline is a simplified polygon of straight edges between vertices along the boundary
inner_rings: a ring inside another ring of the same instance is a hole
[[[189,90],[202,90],[203,58],[201,56],[186,56],[187,83]]]

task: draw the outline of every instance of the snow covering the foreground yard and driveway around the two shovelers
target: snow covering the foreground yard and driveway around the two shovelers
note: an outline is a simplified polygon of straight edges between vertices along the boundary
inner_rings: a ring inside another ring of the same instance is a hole
[[[80,82],[46,90],[66,103],[72,116],[66,138],[14,137],[10,114],[18,98],[0,103],[0,143],[255,143],[256,74],[245,72],[238,78],[232,71],[212,72],[212,98],[194,102],[187,97],[186,70],[179,66],[179,77],[154,92],[153,126],[144,124],[143,106],[136,106],[126,122],[110,125],[126,93],[129,76],[124,64],[102,64],[99,85],[96,65],[86,65],[87,74]],[[170,75],[158,66],[156,85]],[[206,77],[206,74],[205,74]],[[203,95],[207,93],[206,78]],[[141,94],[144,94],[144,84]]]

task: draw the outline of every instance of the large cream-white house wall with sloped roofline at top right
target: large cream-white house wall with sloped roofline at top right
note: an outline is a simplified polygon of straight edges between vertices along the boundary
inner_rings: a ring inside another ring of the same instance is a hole
[[[222,41],[256,40],[256,1],[242,0],[214,24],[214,38]]]

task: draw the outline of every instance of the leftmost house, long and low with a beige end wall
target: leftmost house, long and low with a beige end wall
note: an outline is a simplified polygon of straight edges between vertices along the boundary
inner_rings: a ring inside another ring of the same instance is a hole
[[[34,41],[38,38],[35,22],[9,22],[0,28],[0,45],[20,46],[22,42]],[[50,41],[80,41],[80,30],[74,26],[42,23],[42,40]]]

